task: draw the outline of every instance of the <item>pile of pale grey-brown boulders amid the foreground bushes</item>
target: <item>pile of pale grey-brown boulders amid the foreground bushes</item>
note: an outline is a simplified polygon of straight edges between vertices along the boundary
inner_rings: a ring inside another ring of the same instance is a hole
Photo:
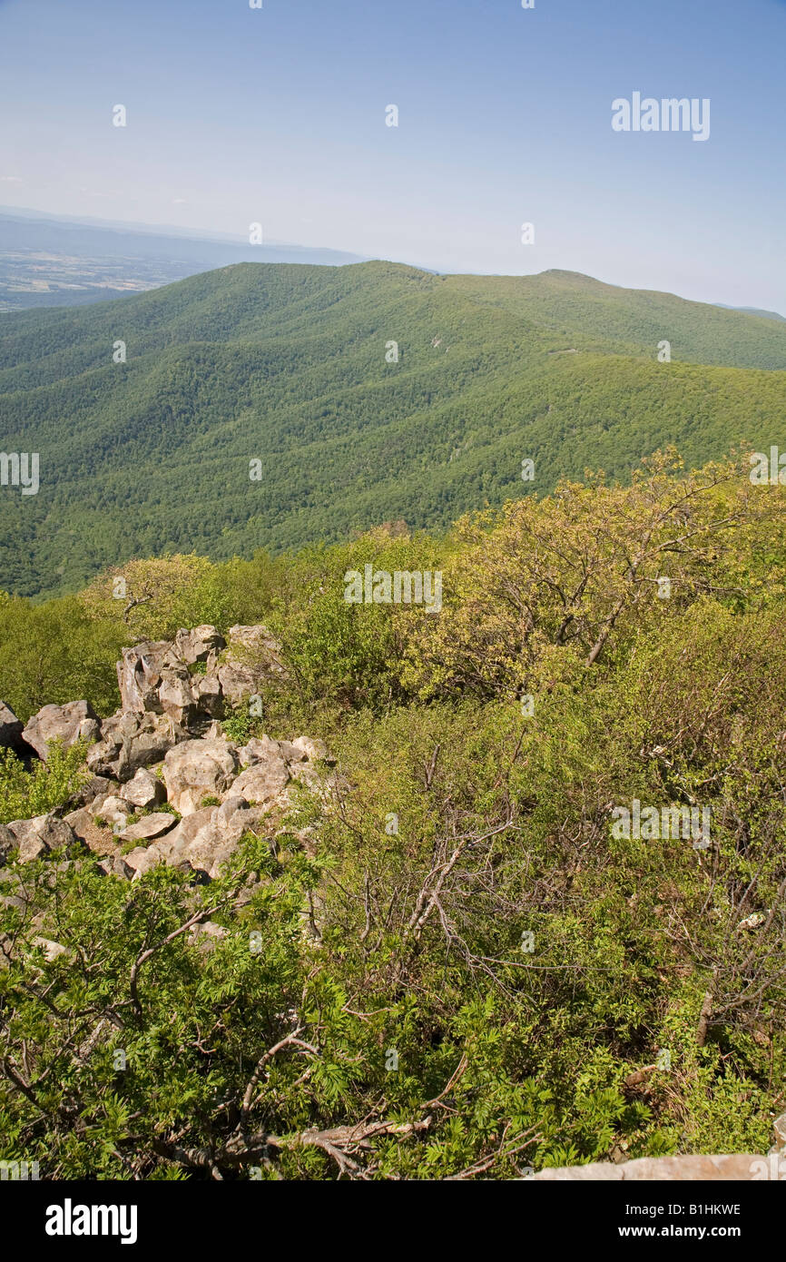
[[[274,827],[295,782],[323,784],[320,741],[262,736],[237,745],[222,732],[227,704],[254,697],[283,670],[264,626],[232,627],[227,641],[206,625],[124,649],[121,707],[103,721],[82,700],[44,705],[23,729],[0,704],[0,743],[9,747],[21,740],[45,760],[54,740],[92,742],[92,779],[73,809],[0,825],[0,864],[13,849],[29,862],[79,839],[107,873],[132,880],[164,862],[214,878],[243,833],[262,820],[266,832]]]

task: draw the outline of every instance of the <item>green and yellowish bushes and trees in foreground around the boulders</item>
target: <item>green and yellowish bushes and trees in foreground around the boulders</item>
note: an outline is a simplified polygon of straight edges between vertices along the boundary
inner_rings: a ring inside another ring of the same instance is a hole
[[[666,454],[440,541],[260,557],[259,583],[161,562],[202,575],[192,622],[220,591],[281,641],[264,718],[238,707],[225,733],[322,734],[331,765],[204,886],[79,851],[8,864],[0,1155],[310,1180],[765,1152],[786,1089],[782,512],[744,464]],[[443,611],[348,604],[365,564],[443,569]],[[110,615],[77,606],[101,660]],[[29,616],[0,602],[5,660]],[[6,757],[4,818],[57,808],[79,758]],[[617,835],[633,799],[707,806],[710,846]]]

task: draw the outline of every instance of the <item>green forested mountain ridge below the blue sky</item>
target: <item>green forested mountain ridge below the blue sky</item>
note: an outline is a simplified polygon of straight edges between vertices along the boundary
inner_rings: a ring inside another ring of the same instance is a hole
[[[40,487],[0,491],[0,588],[442,529],[587,467],[625,481],[670,442],[691,466],[765,451],[783,370],[775,321],[563,271],[242,264],[1,316],[0,448],[38,452]]]

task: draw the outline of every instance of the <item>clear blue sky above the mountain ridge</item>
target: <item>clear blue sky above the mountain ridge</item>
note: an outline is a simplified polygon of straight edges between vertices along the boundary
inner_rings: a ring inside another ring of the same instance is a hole
[[[0,0],[0,203],[786,313],[785,64],[785,0]]]

